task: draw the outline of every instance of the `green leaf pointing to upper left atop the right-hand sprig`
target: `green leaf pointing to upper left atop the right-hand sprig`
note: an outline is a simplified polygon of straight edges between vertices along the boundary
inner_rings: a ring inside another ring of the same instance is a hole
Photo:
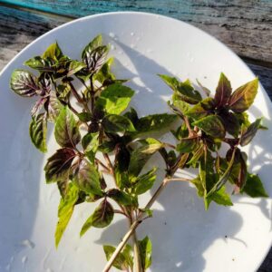
[[[184,83],[180,83],[174,77],[164,74],[159,74],[159,76],[174,92],[177,92],[177,94],[180,96],[180,100],[189,102],[190,104],[196,104],[202,99],[200,93],[194,90],[189,80],[185,81]]]

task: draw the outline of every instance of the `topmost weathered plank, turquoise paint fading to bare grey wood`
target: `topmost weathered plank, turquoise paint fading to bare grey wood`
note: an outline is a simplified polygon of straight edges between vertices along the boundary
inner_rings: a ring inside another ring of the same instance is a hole
[[[241,56],[272,63],[271,0],[2,0],[62,15],[81,17],[109,11],[142,11],[169,15],[194,24],[228,44]]]

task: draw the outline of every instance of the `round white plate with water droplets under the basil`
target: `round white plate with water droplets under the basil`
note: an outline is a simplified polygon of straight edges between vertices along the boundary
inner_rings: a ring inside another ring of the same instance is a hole
[[[105,264],[101,245],[117,244],[127,229],[126,222],[116,216],[110,228],[92,228],[80,239],[80,228],[94,207],[82,205],[55,250],[59,196],[53,185],[44,184],[44,155],[29,140],[33,102],[9,90],[12,71],[55,40],[64,53],[79,59],[83,46],[100,33],[115,48],[115,72],[120,78],[132,79],[130,84],[138,91],[132,106],[141,114],[168,111],[165,101],[171,92],[156,73],[172,73],[194,83],[198,78],[212,90],[220,72],[228,76],[233,88],[254,78],[236,54],[209,34],[160,15],[93,15],[64,24],[28,45],[0,76],[1,271],[101,271]],[[270,130],[258,132],[249,147],[249,169],[258,172],[272,195],[271,104],[262,87],[250,112],[254,117],[265,116]],[[56,147],[49,146],[52,154]],[[139,228],[140,238],[147,234],[153,241],[151,271],[256,270],[271,245],[271,200],[233,200],[232,208],[211,205],[205,212],[195,189],[171,184],[154,206],[154,218]]]

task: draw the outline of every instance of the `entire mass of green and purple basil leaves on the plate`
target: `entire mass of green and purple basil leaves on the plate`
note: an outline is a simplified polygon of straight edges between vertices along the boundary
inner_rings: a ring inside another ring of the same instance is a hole
[[[259,177],[248,172],[248,158],[243,151],[257,131],[265,129],[261,119],[251,122],[247,113],[257,94],[257,79],[232,92],[227,77],[221,73],[214,97],[199,83],[206,93],[203,98],[189,80],[180,82],[160,75],[173,91],[169,102],[173,114],[141,117],[129,108],[134,91],[125,84],[127,80],[116,79],[111,69],[113,58],[108,58],[108,53],[102,35],[85,46],[79,61],[63,54],[59,44],[54,43],[42,55],[24,63],[35,73],[18,69],[11,77],[15,93],[36,98],[29,133],[34,146],[42,152],[47,151],[48,123],[54,125],[59,149],[49,157],[44,171],[46,182],[55,183],[61,195],[56,247],[73,210],[84,202],[94,203],[95,209],[83,223],[81,236],[90,228],[108,227],[117,214],[126,217],[131,225],[142,214],[151,217],[151,209],[140,207],[139,196],[156,181],[157,168],[145,168],[156,152],[165,161],[167,180],[179,169],[199,170],[190,182],[204,199],[206,209],[211,201],[232,205],[227,182],[236,193],[267,197]],[[177,124],[172,131],[176,145],[152,137],[153,132],[170,130],[172,123]],[[222,155],[226,144],[228,149]],[[108,175],[112,175],[113,185]],[[141,270],[145,271],[151,266],[151,240],[146,237],[137,243]],[[103,249],[110,259],[115,248],[107,245]],[[133,262],[127,244],[113,266],[132,271]]]

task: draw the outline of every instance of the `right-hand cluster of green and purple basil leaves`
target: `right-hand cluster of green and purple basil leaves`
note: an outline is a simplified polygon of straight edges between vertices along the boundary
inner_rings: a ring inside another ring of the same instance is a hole
[[[264,129],[261,118],[250,122],[247,113],[257,94],[257,79],[232,92],[228,78],[221,73],[214,97],[200,84],[206,93],[202,98],[189,81],[180,83],[167,75],[160,78],[172,89],[170,108],[182,121],[172,131],[178,141],[176,151],[180,158],[186,158],[184,167],[199,169],[199,175],[191,182],[204,199],[206,209],[211,201],[232,205],[227,182],[236,193],[267,197],[257,175],[248,173],[248,157],[242,150],[259,129]],[[225,155],[222,155],[222,144],[228,145]]]

